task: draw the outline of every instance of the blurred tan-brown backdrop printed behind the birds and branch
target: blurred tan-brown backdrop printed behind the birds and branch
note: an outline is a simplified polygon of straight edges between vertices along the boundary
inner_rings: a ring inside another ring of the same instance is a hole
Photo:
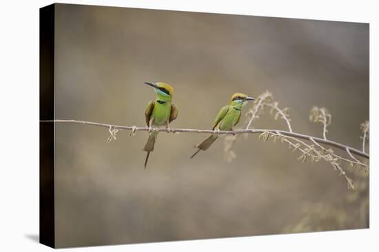
[[[328,137],[361,148],[368,24],[63,4],[56,15],[56,119],[145,126],[155,95],[143,82],[167,82],[171,127],[210,128],[232,93],[269,90],[294,131],[320,136],[309,110],[325,106]],[[285,126],[268,111],[254,122]],[[147,133],[108,136],[56,126],[57,247],[368,227],[368,174],[348,165],[355,191],[328,163],[258,135],[240,137],[228,163],[223,139],[191,160],[207,135],[161,133],[143,170]]]

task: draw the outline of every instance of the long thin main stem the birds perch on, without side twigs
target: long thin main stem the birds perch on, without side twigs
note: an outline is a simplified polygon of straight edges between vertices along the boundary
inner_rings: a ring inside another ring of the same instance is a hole
[[[40,122],[54,122],[54,123],[70,123],[70,124],[85,124],[85,125],[91,125],[91,126],[99,126],[99,127],[105,127],[105,128],[112,128],[112,129],[118,129],[118,130],[132,130],[133,133],[136,131],[148,131],[148,127],[136,127],[136,126],[121,126],[121,125],[114,125],[114,124],[103,124],[99,122],[87,122],[87,121],[81,121],[81,120],[62,120],[62,119],[56,119],[56,120],[43,120]],[[156,128],[154,130],[161,131],[161,132],[167,132],[165,128]],[[326,144],[328,146],[334,146],[336,148],[339,148],[341,150],[349,149],[351,153],[357,154],[360,157],[364,157],[366,159],[369,159],[369,154],[362,152],[361,150],[357,150],[356,148],[352,148],[350,146],[346,146],[345,144],[340,144],[336,141],[331,141],[328,139],[322,139],[318,137],[312,137],[309,135],[303,135],[299,133],[289,132],[285,130],[275,130],[275,129],[244,129],[244,130],[200,130],[200,129],[193,129],[193,128],[170,128],[170,133],[211,133],[211,134],[221,134],[221,135],[236,135],[236,134],[245,134],[245,133],[251,133],[251,134],[257,134],[257,133],[264,133],[266,131],[269,131],[271,133],[280,133],[289,137],[296,137],[298,139],[306,139],[311,141],[311,139],[314,139],[314,141],[320,143],[320,144]]]

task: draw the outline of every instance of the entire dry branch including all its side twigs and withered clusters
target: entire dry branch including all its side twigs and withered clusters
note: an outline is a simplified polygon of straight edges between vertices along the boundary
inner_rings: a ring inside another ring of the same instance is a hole
[[[258,119],[265,108],[269,108],[269,113],[274,119],[283,119],[287,124],[287,130],[278,129],[256,129],[252,128],[253,123]],[[236,153],[233,151],[233,146],[236,143],[238,136],[258,134],[259,139],[265,142],[279,141],[280,143],[287,144],[294,152],[299,152],[298,160],[302,163],[306,161],[318,162],[325,161],[329,163],[334,170],[337,170],[341,176],[343,176],[348,184],[349,188],[354,189],[354,183],[345,171],[344,164],[350,165],[355,170],[360,172],[369,171],[369,153],[367,152],[367,143],[369,141],[369,122],[363,122],[360,124],[362,135],[362,149],[352,148],[345,144],[340,144],[337,141],[332,141],[327,138],[327,127],[331,124],[331,115],[326,108],[318,108],[314,106],[311,108],[309,119],[311,122],[320,123],[322,125],[322,137],[314,137],[311,135],[296,133],[292,130],[291,119],[289,118],[289,108],[280,108],[278,102],[275,102],[271,93],[266,91],[258,96],[255,100],[252,108],[246,113],[247,122],[243,129],[236,130],[203,130],[193,128],[154,128],[153,132],[170,132],[170,133],[205,133],[212,135],[226,135],[224,140],[224,152],[228,161],[232,161],[236,157]],[[107,138],[107,142],[116,140],[116,133],[119,130],[130,130],[130,136],[136,134],[137,131],[150,131],[150,127],[137,127],[137,126],[121,126],[114,124],[105,124],[100,122],[88,122],[73,119],[57,119],[41,122],[54,122],[64,124],[83,124],[88,126],[98,126],[107,128],[110,132],[110,137]],[[345,155],[336,153],[336,150],[342,150]],[[199,149],[200,150],[200,149]]]

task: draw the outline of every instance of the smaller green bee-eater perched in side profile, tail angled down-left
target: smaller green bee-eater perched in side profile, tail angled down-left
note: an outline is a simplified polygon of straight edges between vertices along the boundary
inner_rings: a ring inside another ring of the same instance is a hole
[[[233,127],[238,124],[241,110],[249,100],[255,99],[243,93],[234,93],[229,104],[223,106],[221,111],[218,112],[216,119],[214,119],[212,130],[232,130]],[[200,144],[196,144],[195,148],[198,148],[198,150],[191,156],[191,159],[195,157],[199,151],[207,150],[219,136],[218,134],[212,134]]]

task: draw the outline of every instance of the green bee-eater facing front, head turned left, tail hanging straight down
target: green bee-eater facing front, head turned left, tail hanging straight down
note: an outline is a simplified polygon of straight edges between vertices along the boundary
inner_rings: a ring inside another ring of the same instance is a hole
[[[176,119],[178,109],[174,104],[171,104],[174,89],[170,84],[163,82],[145,82],[145,84],[154,87],[156,93],[156,100],[149,102],[145,110],[146,124],[149,127],[149,139],[147,139],[145,148],[143,148],[147,152],[145,159],[146,169],[147,159],[149,159],[150,152],[154,150],[154,144],[158,136],[158,131],[154,130],[153,127],[165,126],[167,132],[170,132],[168,124]]]

